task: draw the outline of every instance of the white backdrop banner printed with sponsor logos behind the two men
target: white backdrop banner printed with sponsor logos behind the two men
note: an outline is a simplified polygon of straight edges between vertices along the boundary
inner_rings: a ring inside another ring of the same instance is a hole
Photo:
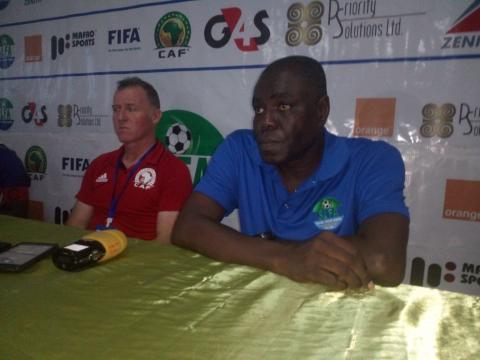
[[[66,221],[89,163],[119,146],[116,81],[158,89],[157,135],[197,182],[251,126],[265,65],[309,55],[327,72],[329,130],[403,155],[404,282],[480,294],[479,0],[0,3],[0,142],[24,159],[46,221]]]

